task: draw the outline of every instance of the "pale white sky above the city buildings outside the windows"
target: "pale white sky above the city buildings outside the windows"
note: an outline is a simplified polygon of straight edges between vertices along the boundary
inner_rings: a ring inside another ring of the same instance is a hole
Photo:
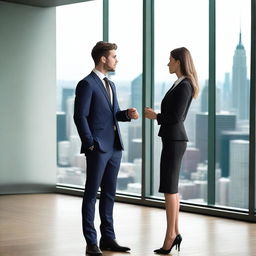
[[[142,0],[109,0],[109,41],[118,45],[115,79],[132,80],[142,72]],[[208,79],[208,1],[155,0],[155,80],[172,79],[169,53],[185,46],[200,80]],[[216,76],[232,71],[239,32],[249,71],[250,1],[216,0]],[[102,0],[57,8],[57,78],[80,80],[93,68],[92,47],[102,40]],[[248,74],[249,76],[249,74]]]

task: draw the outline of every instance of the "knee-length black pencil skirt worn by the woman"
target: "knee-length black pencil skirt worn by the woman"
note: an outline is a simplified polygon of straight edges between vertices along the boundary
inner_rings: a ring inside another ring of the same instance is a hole
[[[181,161],[187,142],[162,138],[162,146],[159,192],[176,194],[178,193]]]

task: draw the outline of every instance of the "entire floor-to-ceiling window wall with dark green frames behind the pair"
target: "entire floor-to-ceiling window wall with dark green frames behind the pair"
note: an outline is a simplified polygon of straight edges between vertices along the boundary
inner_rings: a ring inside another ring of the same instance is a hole
[[[255,58],[250,52],[255,37],[251,3],[255,9],[255,0],[94,0],[58,7],[58,185],[84,187],[85,157],[79,153],[72,118],[74,89],[94,66],[92,47],[105,40],[118,45],[117,69],[109,76],[120,108],[135,107],[140,114],[139,120],[120,123],[125,149],[117,192],[126,201],[162,202],[159,126],[156,121],[150,122],[152,126],[143,121],[143,100],[152,95],[147,103],[160,111],[162,98],[177,79],[168,71],[170,51],[185,46],[194,59],[200,94],[185,122],[189,142],[180,170],[181,201],[193,211],[218,208],[219,214],[225,208],[247,218],[238,213],[248,210],[249,174],[255,172],[249,161],[250,100],[255,102],[250,87],[255,86],[250,74]],[[145,18],[148,15],[150,19]]]

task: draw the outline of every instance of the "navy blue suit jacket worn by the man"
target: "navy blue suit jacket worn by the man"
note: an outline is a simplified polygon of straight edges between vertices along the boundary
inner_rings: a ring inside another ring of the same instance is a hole
[[[77,84],[74,121],[82,142],[81,153],[87,153],[92,145],[102,152],[112,150],[115,138],[123,150],[118,121],[130,119],[127,110],[120,110],[115,85],[111,81],[110,86],[113,106],[102,81],[93,71]]]

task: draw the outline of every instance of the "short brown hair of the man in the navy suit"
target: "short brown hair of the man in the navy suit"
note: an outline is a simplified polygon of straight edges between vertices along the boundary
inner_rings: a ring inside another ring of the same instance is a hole
[[[99,41],[92,49],[92,58],[94,60],[95,65],[97,65],[100,62],[100,58],[102,56],[105,56],[106,58],[109,56],[109,51],[111,50],[116,50],[117,45],[104,42],[104,41]]]

